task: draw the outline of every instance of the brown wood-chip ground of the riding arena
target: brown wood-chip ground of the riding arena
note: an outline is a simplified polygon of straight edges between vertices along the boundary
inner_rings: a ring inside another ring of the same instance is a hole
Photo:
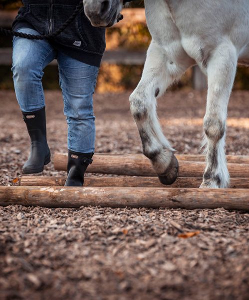
[[[66,152],[60,91],[47,91],[47,135]],[[96,94],[96,152],[139,153],[129,92]],[[178,153],[201,153],[206,93],[158,101]],[[14,185],[29,138],[12,91],[0,91],[0,185]],[[249,92],[232,94],[227,154],[249,155]],[[50,163],[43,175],[62,175]],[[179,233],[197,231],[183,238]],[[0,299],[246,300],[249,213],[225,209],[0,207]]]

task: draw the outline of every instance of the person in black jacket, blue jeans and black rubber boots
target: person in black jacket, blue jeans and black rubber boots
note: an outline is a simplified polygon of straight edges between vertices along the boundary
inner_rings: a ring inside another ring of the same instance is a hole
[[[79,0],[23,0],[12,28],[28,34],[50,34],[74,12]],[[65,186],[82,186],[95,144],[93,92],[105,50],[105,29],[93,27],[80,11],[58,36],[45,40],[13,37],[12,72],[16,98],[30,136],[24,173],[41,172],[50,162],[46,139],[43,69],[54,58],[68,126]]]

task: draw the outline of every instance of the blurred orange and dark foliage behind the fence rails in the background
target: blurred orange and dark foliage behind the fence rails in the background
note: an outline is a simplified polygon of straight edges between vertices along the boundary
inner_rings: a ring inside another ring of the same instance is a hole
[[[70,2],[70,0],[69,0]],[[22,6],[21,0],[0,0],[0,9],[10,10]],[[130,2],[128,7],[144,7],[143,0]],[[106,30],[107,50],[118,50],[119,48],[129,50],[146,50],[150,44],[151,36],[148,28],[142,23],[126,23],[125,26],[112,27]],[[0,38],[0,47],[10,47],[11,38]],[[102,63],[99,71],[96,90],[123,91],[133,89],[143,70],[143,65],[115,65]],[[56,66],[47,66],[43,77],[44,88],[59,88],[58,71]],[[191,86],[191,71],[188,70],[181,80],[172,88]],[[0,88],[13,88],[10,66],[0,66]],[[234,88],[249,89],[249,68],[239,67]]]

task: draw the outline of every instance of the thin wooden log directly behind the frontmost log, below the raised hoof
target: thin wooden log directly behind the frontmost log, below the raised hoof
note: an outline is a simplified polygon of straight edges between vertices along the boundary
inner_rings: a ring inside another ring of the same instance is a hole
[[[66,177],[22,176],[21,186],[64,186]],[[202,178],[178,177],[171,185],[162,184],[157,177],[85,177],[84,186],[123,186],[123,187],[199,187]],[[231,188],[249,188],[249,178],[231,178]]]

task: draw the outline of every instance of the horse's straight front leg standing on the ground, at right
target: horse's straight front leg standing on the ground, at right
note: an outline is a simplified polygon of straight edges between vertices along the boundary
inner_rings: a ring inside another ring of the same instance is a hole
[[[208,62],[206,169],[201,187],[227,187],[229,172],[225,154],[227,107],[237,67],[237,51],[230,41],[220,44]]]

